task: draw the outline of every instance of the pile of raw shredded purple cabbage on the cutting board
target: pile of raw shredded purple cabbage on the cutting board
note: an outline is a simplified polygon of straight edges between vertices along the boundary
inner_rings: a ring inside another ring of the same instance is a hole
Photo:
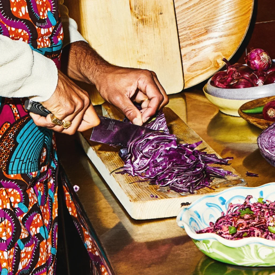
[[[168,128],[162,112],[152,122],[153,125],[149,123],[145,127],[162,131],[144,134],[131,141],[127,148],[120,150],[124,166],[116,173],[139,176],[144,179],[142,181],[191,194],[194,190],[209,186],[215,177],[232,175],[230,171],[209,164],[229,165],[228,160],[233,158],[219,159],[215,154],[196,150],[202,141],[177,144],[175,135],[164,132]]]

